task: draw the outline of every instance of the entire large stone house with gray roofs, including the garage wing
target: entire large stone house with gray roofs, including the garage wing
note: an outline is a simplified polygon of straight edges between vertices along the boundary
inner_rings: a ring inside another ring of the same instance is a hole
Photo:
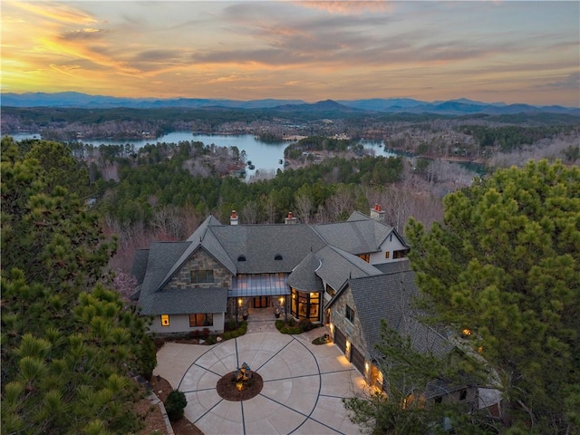
[[[420,351],[442,355],[451,347],[412,315],[418,289],[410,247],[383,217],[378,205],[370,216],[353,212],[320,225],[298,223],[292,213],[274,225],[239,225],[236,211],[229,225],[210,216],[184,242],[136,252],[140,312],[153,317],[152,333],[221,333],[228,318],[248,309],[277,308],[328,325],[346,358],[380,388],[382,319]]]

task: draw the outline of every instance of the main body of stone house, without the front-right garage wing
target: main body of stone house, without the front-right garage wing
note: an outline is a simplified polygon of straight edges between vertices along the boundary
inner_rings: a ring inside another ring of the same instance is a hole
[[[279,307],[296,319],[330,322],[330,308],[348,281],[382,275],[377,266],[405,260],[409,246],[384,222],[359,212],[345,222],[229,225],[208,217],[184,242],[154,242],[138,250],[141,314],[152,315],[153,333],[219,333],[228,317],[248,308]]]

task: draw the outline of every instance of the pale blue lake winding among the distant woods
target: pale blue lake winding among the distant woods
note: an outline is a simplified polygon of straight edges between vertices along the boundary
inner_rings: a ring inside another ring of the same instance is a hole
[[[14,140],[25,140],[25,139],[40,139],[38,133],[22,133],[22,134],[12,134],[10,135]],[[247,160],[250,160],[252,164],[256,167],[254,170],[247,169],[247,177],[251,177],[256,173],[256,170],[261,171],[273,171],[277,169],[284,169],[284,165],[280,164],[280,160],[284,161],[284,150],[285,148],[293,143],[289,140],[280,142],[264,142],[262,140],[256,139],[252,134],[240,134],[240,135],[226,135],[226,134],[195,134],[191,131],[173,131],[164,136],[160,136],[156,140],[152,139],[140,139],[140,140],[82,140],[83,143],[91,144],[94,146],[99,145],[125,145],[130,143],[134,145],[135,148],[141,148],[148,143],[179,143],[184,140],[189,141],[199,141],[203,142],[205,145],[211,145],[212,143],[218,147],[237,147],[238,150],[246,150]],[[376,140],[361,140],[362,146],[365,150],[374,150],[375,156],[396,156],[391,150],[385,150],[382,141]]]

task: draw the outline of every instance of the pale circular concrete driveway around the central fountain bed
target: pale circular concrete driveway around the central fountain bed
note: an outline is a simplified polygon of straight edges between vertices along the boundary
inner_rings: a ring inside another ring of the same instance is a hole
[[[324,333],[247,333],[212,346],[166,343],[154,374],[186,394],[185,416],[206,435],[358,434],[342,399],[364,388],[362,375]],[[264,381],[248,401],[225,401],[218,380],[247,362]]]

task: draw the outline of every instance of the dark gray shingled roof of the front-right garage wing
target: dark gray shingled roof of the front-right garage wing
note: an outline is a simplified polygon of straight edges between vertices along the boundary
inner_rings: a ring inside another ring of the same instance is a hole
[[[380,343],[382,319],[401,335],[410,336],[413,348],[419,352],[442,356],[452,349],[447,338],[421,324],[414,315],[411,300],[419,295],[419,289],[411,270],[352,279],[349,286],[362,333],[373,356],[380,356],[375,345]]]

